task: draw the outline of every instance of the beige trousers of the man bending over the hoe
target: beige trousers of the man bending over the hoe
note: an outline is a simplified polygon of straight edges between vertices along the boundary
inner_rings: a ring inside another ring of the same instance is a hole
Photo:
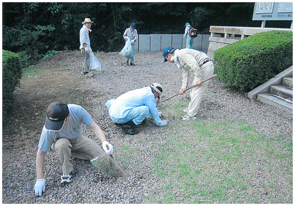
[[[201,72],[203,73],[203,80],[211,77],[214,72],[214,65],[212,62],[207,62],[201,67]],[[196,77],[194,77],[193,82],[191,83],[191,86],[196,84]],[[202,100],[202,97],[204,96],[206,87],[208,85],[209,81],[204,82],[201,84],[201,86],[197,86],[191,89],[189,95],[191,97],[191,101],[189,102],[189,112],[188,114],[192,117],[196,116],[198,113],[198,109],[200,107],[200,103]]]

